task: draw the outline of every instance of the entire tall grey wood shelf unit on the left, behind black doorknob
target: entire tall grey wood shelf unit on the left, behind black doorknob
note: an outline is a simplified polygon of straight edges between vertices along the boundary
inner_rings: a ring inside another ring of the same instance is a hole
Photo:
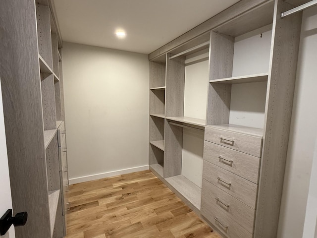
[[[0,3],[0,77],[13,211],[28,212],[27,224],[15,228],[17,238],[66,234],[68,176],[61,172],[67,159],[59,151],[65,139],[61,41],[50,6],[48,0]]]

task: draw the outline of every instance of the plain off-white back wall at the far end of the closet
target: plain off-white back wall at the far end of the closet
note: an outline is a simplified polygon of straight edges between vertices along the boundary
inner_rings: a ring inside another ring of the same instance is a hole
[[[147,166],[147,55],[64,43],[62,58],[70,182]]]

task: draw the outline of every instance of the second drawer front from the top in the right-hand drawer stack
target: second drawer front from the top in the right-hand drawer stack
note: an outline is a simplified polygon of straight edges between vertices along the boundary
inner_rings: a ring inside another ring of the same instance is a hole
[[[254,183],[259,181],[260,158],[204,141],[204,159]]]

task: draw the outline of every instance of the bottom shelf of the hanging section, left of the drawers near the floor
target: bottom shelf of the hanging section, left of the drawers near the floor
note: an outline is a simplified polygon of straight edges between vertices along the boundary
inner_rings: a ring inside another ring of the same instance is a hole
[[[189,202],[191,202],[198,210],[200,210],[202,189],[199,186],[183,175],[166,178],[165,180],[179,193],[181,193]]]

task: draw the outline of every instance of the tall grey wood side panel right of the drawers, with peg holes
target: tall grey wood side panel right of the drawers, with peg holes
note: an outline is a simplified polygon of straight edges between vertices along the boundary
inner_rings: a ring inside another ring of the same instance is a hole
[[[275,237],[277,232],[302,21],[301,13],[280,19],[280,13],[291,8],[286,2],[275,1],[255,225],[257,238]]]

